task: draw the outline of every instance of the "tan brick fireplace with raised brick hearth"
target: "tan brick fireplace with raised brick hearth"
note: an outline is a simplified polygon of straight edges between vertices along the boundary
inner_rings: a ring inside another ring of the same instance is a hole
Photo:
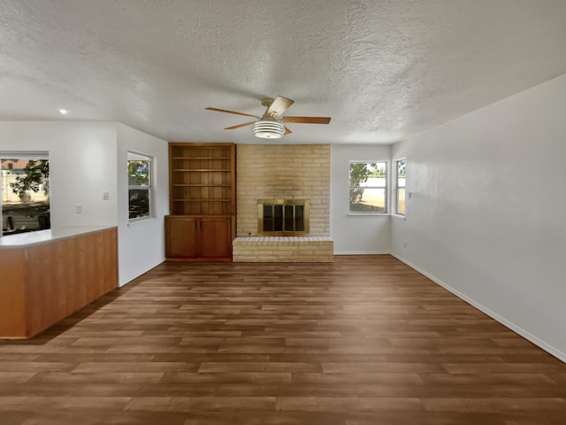
[[[330,145],[239,144],[236,158],[233,261],[332,261]],[[263,199],[309,199],[308,234],[260,235],[258,201]]]

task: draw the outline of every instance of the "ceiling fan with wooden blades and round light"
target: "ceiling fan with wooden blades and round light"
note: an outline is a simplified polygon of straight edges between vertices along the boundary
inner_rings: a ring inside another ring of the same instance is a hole
[[[288,107],[294,104],[294,100],[287,99],[287,97],[278,96],[274,99],[272,97],[264,97],[262,104],[267,108],[262,117],[251,115],[249,113],[227,111],[226,109],[218,108],[204,108],[207,111],[235,113],[236,115],[243,115],[244,117],[254,117],[257,120],[244,122],[237,126],[226,127],[225,130],[233,130],[246,126],[252,126],[254,135],[263,139],[279,139],[283,135],[292,133],[285,124],[293,122],[295,124],[328,124],[330,117],[282,117],[283,112],[287,111]]]

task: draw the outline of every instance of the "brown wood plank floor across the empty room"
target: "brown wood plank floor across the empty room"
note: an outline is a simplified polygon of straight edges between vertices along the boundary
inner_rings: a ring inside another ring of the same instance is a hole
[[[566,423],[566,365],[390,256],[165,263],[0,342],[0,424]]]

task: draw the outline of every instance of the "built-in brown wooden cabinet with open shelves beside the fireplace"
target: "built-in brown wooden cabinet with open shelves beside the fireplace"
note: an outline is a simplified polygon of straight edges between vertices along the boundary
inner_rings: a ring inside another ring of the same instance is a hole
[[[167,259],[231,260],[235,235],[235,145],[169,143],[169,170]]]

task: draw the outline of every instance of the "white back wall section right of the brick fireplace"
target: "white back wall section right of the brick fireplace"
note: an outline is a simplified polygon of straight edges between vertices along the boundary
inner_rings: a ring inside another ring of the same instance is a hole
[[[391,146],[333,144],[330,151],[330,236],[335,254],[380,254],[390,251],[388,215],[349,214],[349,161],[387,161]]]

